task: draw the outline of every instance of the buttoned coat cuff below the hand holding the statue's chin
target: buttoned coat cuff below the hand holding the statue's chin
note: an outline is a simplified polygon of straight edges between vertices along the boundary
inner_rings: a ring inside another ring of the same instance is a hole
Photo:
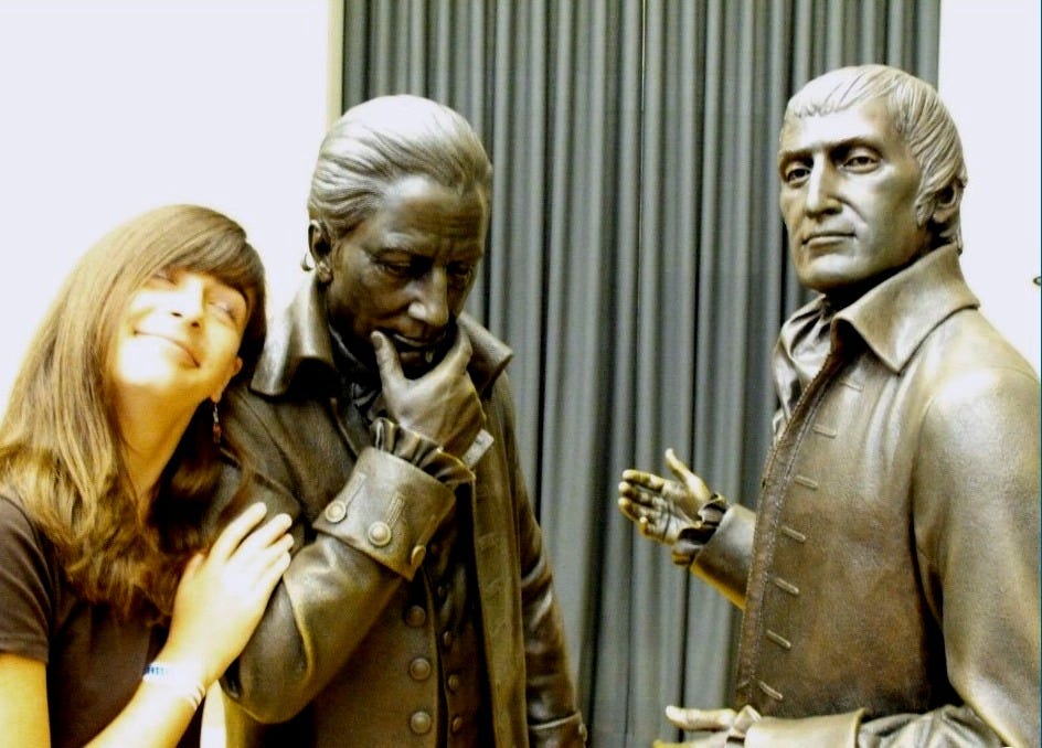
[[[455,494],[419,468],[368,447],[347,485],[316,517],[332,535],[412,580],[427,542],[451,510]]]

